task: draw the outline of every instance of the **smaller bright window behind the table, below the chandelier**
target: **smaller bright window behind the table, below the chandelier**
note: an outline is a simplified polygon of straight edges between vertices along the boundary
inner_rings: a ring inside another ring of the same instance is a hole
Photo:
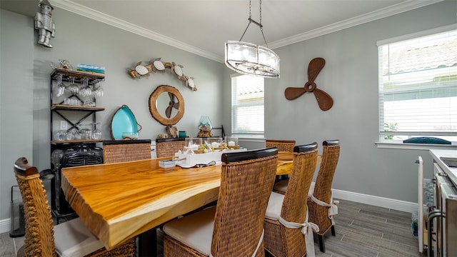
[[[231,77],[231,131],[233,136],[263,138],[263,78]]]

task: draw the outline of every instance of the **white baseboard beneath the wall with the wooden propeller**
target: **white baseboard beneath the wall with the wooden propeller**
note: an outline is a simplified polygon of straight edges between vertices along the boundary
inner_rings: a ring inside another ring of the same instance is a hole
[[[379,206],[384,208],[391,208],[397,211],[406,211],[413,213],[418,211],[418,204],[408,201],[401,201],[391,198],[385,198],[380,196],[371,196],[363,193],[354,193],[349,191],[343,191],[338,189],[332,189],[333,198],[339,198],[347,201],[354,201],[357,203],[366,203],[373,206]]]

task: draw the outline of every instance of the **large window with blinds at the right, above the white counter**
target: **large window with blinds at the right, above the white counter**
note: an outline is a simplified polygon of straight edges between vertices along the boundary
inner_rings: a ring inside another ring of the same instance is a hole
[[[378,42],[381,142],[457,141],[457,29],[451,28]]]

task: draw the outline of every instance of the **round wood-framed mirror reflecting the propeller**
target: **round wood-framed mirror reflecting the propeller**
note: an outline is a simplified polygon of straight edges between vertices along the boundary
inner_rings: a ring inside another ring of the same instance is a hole
[[[149,96],[149,111],[162,125],[174,125],[184,116],[184,99],[178,89],[161,85]]]

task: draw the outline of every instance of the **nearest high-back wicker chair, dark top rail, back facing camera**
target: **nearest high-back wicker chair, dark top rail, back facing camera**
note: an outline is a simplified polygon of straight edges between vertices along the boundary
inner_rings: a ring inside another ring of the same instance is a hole
[[[222,154],[216,207],[164,225],[167,256],[265,256],[263,217],[276,174],[278,151]]]

